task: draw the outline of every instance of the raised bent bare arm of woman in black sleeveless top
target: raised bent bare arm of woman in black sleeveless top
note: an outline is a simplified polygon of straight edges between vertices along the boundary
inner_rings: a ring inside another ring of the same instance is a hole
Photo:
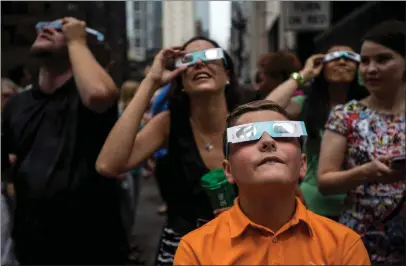
[[[164,144],[169,134],[169,112],[154,117],[138,133],[142,116],[157,86],[159,85],[148,77],[142,81],[99,154],[96,169],[100,174],[116,177],[127,172]]]

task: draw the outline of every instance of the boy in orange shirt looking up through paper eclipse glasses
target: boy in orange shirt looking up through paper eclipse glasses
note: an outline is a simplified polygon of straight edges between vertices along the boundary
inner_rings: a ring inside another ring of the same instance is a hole
[[[182,238],[175,265],[371,265],[359,235],[295,197],[307,168],[302,122],[262,100],[235,109],[227,125],[223,167],[239,197]]]

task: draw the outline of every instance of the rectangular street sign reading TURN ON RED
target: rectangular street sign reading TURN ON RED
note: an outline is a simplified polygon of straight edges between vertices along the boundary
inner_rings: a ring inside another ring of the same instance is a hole
[[[325,30],[330,27],[330,2],[283,1],[282,15],[285,30]]]

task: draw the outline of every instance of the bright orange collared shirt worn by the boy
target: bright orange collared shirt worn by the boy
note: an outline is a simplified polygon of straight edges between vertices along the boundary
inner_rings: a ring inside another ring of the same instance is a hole
[[[278,232],[251,222],[234,206],[182,238],[175,265],[371,265],[360,236],[296,199]]]

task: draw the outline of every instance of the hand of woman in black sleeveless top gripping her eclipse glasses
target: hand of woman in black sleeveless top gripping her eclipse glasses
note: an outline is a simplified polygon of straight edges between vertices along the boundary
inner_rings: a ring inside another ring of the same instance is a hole
[[[180,50],[180,47],[170,47],[162,49],[154,58],[151,68],[148,71],[147,77],[152,79],[154,83],[159,84],[158,88],[171,82],[176,76],[182,73],[187,67],[178,67],[173,71],[166,69],[170,60],[185,55],[186,52]]]

